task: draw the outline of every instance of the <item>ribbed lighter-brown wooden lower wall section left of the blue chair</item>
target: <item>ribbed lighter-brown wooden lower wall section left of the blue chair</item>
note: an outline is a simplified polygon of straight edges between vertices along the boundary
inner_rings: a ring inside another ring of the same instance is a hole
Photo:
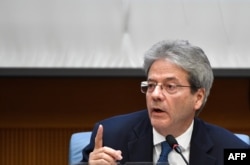
[[[1,128],[1,165],[67,165],[73,128]]]

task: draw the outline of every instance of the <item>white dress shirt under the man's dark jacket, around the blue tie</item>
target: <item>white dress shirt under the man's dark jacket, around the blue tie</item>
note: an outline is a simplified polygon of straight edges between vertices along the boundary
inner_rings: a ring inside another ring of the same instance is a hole
[[[182,154],[188,162],[189,162],[190,140],[191,140],[191,135],[193,132],[193,125],[194,125],[194,121],[192,121],[191,125],[183,134],[176,137],[176,140],[182,150]],[[159,134],[153,128],[153,141],[154,141],[153,161],[154,161],[154,164],[157,163],[161,154],[161,142],[165,140],[166,140],[165,137]],[[186,165],[182,157],[175,150],[172,150],[169,153],[168,162],[170,165]]]

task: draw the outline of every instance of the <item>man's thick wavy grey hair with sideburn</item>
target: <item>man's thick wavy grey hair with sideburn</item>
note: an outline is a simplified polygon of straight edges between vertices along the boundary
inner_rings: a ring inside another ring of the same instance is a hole
[[[188,73],[188,81],[193,93],[199,88],[205,88],[205,98],[197,111],[198,114],[205,106],[214,80],[210,62],[204,51],[184,40],[160,41],[144,55],[143,67],[146,75],[153,62],[158,59],[167,59],[184,69]]]

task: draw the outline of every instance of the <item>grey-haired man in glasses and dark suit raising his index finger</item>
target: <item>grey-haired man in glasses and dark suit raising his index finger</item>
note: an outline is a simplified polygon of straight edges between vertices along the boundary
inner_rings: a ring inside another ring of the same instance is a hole
[[[146,52],[144,69],[147,110],[97,123],[83,162],[155,164],[167,135],[176,138],[191,165],[222,165],[224,148],[249,148],[231,132],[197,118],[213,83],[202,49],[182,40],[159,42]],[[166,157],[171,165],[185,164],[174,150]]]

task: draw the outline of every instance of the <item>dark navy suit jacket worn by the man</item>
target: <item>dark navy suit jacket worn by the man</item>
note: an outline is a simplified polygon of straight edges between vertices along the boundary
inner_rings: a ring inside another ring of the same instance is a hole
[[[90,144],[83,149],[83,162],[94,148],[98,125],[104,128],[103,145],[122,151],[126,162],[153,161],[153,132],[147,110],[115,116],[97,123]],[[249,148],[231,132],[194,119],[191,137],[190,165],[223,165],[224,148]]]

